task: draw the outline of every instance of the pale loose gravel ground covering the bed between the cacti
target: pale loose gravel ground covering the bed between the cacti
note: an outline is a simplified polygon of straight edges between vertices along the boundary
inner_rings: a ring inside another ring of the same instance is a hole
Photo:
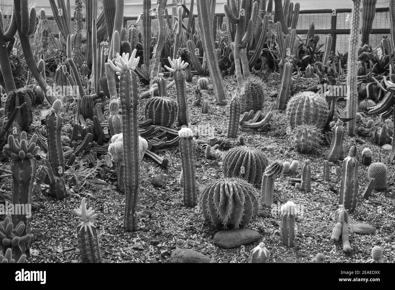
[[[263,76],[266,78],[266,76]],[[188,110],[192,125],[209,126],[213,134],[200,138],[210,140],[211,145],[219,144],[220,150],[226,152],[237,146],[237,140],[227,140],[228,106],[215,105],[212,86],[203,92],[203,100],[209,102],[209,114],[202,115],[201,107],[194,107],[194,96],[191,87],[196,84],[197,77],[187,85]],[[276,90],[279,82],[278,75],[267,76],[267,91]],[[316,80],[297,80],[304,88],[312,86]],[[224,78],[226,92],[235,90],[237,84],[233,76]],[[169,97],[176,99],[175,88],[168,91]],[[230,94],[228,96],[230,98]],[[344,109],[345,103],[338,102],[337,110]],[[40,126],[41,110],[45,105],[38,107],[35,112],[35,122],[32,127]],[[386,191],[374,191],[369,200],[364,200],[361,193],[368,181],[367,167],[359,167],[359,196],[355,211],[349,214],[350,243],[353,248],[351,254],[342,251],[342,243],[330,241],[330,235],[335,225],[332,215],[338,208],[338,190],[340,182],[332,166],[331,180],[323,181],[322,162],[327,153],[328,146],[323,147],[315,154],[301,154],[293,150],[290,138],[286,134],[287,121],[284,111],[275,110],[275,98],[265,98],[265,112],[273,111],[270,128],[264,132],[240,132],[250,146],[262,146],[269,163],[278,161],[310,159],[312,167],[312,192],[305,193],[295,189],[289,181],[290,177],[278,176],[275,181],[275,202],[284,204],[292,200],[301,211],[296,226],[295,246],[286,247],[281,243],[279,236],[280,215],[276,208],[271,210],[267,218],[258,217],[248,228],[260,232],[260,241],[263,241],[270,252],[270,262],[310,262],[317,253],[324,253],[326,262],[365,262],[370,258],[370,251],[374,245],[382,247],[384,262],[394,262],[394,175],[393,165],[386,162],[388,151],[374,144],[369,131],[365,126],[367,118],[360,114],[357,135],[365,144],[356,143],[358,152],[368,147],[373,152],[372,162],[382,160],[388,166],[388,188]],[[40,116],[40,117],[38,117]],[[376,118],[376,117],[374,117]],[[66,118],[65,118],[66,119]],[[176,121],[177,123],[177,121]],[[174,127],[174,126],[173,126]],[[176,127],[174,127],[176,129]],[[346,135],[344,142],[348,148],[355,143],[354,138]],[[284,153],[280,153],[282,148]],[[247,262],[249,252],[260,241],[245,245],[238,249],[220,249],[213,243],[216,230],[203,222],[198,206],[187,208],[183,206],[182,188],[177,184],[181,171],[179,148],[165,148],[156,150],[156,153],[169,160],[167,168],[161,168],[150,159],[144,158],[141,163],[141,183],[139,202],[137,206],[138,225],[136,232],[126,232],[123,229],[124,194],[116,190],[115,167],[107,167],[104,162],[98,166],[96,178],[107,184],[92,183],[85,189],[77,192],[70,190],[66,200],[54,200],[48,195],[45,187],[38,209],[33,212],[30,225],[33,234],[30,245],[28,261],[37,262],[77,262],[79,251],[76,237],[76,226],[79,218],[74,215],[73,209],[81,204],[81,198],[86,196],[87,206],[98,213],[94,224],[98,229],[98,238],[103,262],[167,262],[171,252],[176,247],[199,251],[212,257],[216,262]],[[195,155],[196,177],[199,188],[203,189],[207,183],[222,177],[222,158],[216,160],[205,159],[203,152]],[[103,159],[103,156],[101,157]],[[9,168],[9,162],[3,161],[1,168]],[[169,181],[163,187],[153,187],[151,180],[156,174],[167,174]],[[2,189],[10,191],[10,180],[2,180]],[[334,183],[334,186],[331,186]],[[376,230],[369,236],[361,236],[352,232],[351,224],[366,222]]]

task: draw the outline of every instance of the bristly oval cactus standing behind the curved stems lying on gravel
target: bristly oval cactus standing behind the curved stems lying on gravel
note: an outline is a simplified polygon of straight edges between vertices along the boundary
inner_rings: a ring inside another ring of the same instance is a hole
[[[250,75],[243,83],[240,94],[241,113],[250,110],[263,109],[263,100],[265,99],[266,88],[265,82],[256,75]]]

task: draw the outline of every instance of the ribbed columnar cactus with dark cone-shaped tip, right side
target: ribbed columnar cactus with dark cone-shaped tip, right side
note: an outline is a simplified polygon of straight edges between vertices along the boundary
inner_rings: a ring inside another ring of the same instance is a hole
[[[342,180],[339,190],[339,204],[344,205],[347,210],[354,210],[357,205],[358,195],[358,165],[355,157],[357,148],[352,146],[348,157],[343,161]]]

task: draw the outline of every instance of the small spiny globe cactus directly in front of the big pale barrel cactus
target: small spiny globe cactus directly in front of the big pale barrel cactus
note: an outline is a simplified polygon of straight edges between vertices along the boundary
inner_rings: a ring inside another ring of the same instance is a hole
[[[292,141],[299,152],[316,151],[322,143],[321,130],[314,125],[299,125],[293,129]]]

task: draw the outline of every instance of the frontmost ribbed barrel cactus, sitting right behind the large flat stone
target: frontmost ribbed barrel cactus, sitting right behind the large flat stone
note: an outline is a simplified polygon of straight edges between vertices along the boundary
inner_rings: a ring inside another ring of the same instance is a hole
[[[258,214],[254,187],[238,178],[225,178],[207,185],[201,195],[205,221],[218,228],[244,228]]]

